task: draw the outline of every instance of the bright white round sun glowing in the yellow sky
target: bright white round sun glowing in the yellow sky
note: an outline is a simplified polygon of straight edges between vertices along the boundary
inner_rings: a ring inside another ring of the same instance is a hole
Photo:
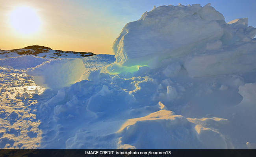
[[[30,35],[39,31],[41,21],[34,9],[20,6],[11,12],[10,24],[22,35]]]

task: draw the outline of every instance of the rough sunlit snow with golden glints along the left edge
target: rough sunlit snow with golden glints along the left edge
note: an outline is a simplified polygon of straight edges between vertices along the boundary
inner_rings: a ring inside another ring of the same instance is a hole
[[[13,62],[15,65],[15,62]],[[22,69],[0,67],[0,148],[38,148],[42,130],[33,94],[43,93]]]

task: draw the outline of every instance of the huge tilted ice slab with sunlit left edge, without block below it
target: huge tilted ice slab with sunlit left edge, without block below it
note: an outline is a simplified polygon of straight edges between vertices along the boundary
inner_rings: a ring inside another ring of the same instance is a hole
[[[219,40],[223,23],[223,15],[209,5],[160,6],[126,24],[113,51],[122,66],[149,65]]]

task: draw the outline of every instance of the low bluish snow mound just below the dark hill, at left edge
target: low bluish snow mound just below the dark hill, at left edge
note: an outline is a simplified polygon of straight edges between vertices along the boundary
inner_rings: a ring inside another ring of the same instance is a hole
[[[23,55],[19,57],[10,57],[0,59],[0,66],[11,66],[14,69],[27,69],[42,64],[49,59],[35,57],[33,55]]]

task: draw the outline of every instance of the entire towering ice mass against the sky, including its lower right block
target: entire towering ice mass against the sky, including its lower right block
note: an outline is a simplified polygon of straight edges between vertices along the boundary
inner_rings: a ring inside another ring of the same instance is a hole
[[[236,73],[256,68],[256,42],[252,41],[256,29],[247,22],[243,18],[226,23],[210,4],[160,6],[126,24],[112,48],[117,63],[124,67],[158,68],[163,60],[176,58],[181,66],[185,62],[191,77]],[[190,58],[185,60],[186,56]],[[249,63],[244,62],[247,59]],[[172,76],[175,68],[179,69],[168,66],[163,73]]]

